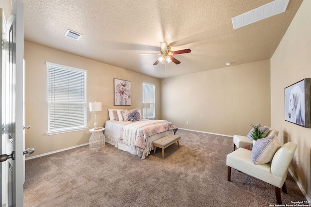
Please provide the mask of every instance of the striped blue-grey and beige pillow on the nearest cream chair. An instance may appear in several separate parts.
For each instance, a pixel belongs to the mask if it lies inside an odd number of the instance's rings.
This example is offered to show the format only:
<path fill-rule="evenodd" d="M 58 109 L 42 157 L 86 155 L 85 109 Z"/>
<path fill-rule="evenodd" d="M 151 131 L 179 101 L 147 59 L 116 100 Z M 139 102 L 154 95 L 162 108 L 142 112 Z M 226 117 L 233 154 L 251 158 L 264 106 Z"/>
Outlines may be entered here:
<path fill-rule="evenodd" d="M 255 164 L 265 164 L 273 159 L 276 151 L 281 147 L 276 135 L 271 135 L 256 141 L 252 148 L 251 158 Z"/>

